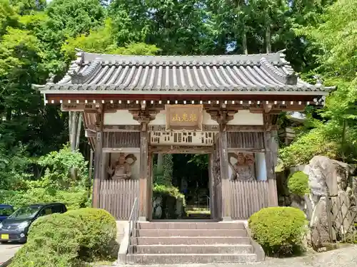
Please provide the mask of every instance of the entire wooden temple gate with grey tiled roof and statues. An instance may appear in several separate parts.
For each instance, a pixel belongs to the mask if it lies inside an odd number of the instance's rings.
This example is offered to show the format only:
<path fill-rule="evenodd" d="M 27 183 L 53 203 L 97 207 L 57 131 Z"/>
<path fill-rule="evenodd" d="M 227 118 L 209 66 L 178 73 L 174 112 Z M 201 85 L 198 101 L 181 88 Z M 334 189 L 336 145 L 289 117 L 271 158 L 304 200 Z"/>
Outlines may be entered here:
<path fill-rule="evenodd" d="M 78 53 L 45 103 L 84 113 L 94 149 L 93 206 L 151 220 L 155 153 L 209 155 L 211 219 L 277 206 L 274 168 L 282 111 L 323 105 L 331 88 L 299 79 L 281 53 L 120 56 Z"/>

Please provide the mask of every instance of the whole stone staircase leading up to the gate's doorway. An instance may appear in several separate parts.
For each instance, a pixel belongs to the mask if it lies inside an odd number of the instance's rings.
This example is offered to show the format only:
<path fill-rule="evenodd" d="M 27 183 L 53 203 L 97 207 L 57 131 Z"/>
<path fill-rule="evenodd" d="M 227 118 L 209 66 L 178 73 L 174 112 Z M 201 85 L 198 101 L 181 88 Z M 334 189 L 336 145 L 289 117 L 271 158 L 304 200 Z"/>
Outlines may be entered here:
<path fill-rule="evenodd" d="M 130 244 L 126 255 L 126 263 L 129 264 L 262 260 L 244 224 L 237 222 L 139 222 Z"/>

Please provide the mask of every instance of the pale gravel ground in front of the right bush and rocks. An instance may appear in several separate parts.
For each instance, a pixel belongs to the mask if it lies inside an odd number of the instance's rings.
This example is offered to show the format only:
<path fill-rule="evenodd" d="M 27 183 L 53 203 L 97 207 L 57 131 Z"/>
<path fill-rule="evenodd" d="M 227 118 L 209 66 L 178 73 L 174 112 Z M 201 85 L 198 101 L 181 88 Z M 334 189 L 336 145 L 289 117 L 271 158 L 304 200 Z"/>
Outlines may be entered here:
<path fill-rule="evenodd" d="M 131 267 L 141 267 L 130 265 Z M 266 258 L 261 263 L 237 264 L 189 264 L 189 265 L 155 265 L 150 267 L 356 267 L 357 246 L 345 246 L 333 251 L 311 253 L 293 258 Z M 101 266 L 106 267 L 106 266 Z M 108 266 L 109 267 L 109 266 Z"/>

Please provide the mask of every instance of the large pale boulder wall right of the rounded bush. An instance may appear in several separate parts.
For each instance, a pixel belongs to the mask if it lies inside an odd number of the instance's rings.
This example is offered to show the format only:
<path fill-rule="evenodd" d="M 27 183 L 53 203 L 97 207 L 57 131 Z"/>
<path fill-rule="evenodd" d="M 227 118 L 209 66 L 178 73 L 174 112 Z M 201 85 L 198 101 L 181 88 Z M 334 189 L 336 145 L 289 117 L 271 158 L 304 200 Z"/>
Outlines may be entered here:
<path fill-rule="evenodd" d="M 357 187 L 354 168 L 328 157 L 316 156 L 303 169 L 310 194 L 303 199 L 310 219 L 310 242 L 314 249 L 341 241 L 356 220 Z M 329 220 L 331 221 L 329 223 Z"/>

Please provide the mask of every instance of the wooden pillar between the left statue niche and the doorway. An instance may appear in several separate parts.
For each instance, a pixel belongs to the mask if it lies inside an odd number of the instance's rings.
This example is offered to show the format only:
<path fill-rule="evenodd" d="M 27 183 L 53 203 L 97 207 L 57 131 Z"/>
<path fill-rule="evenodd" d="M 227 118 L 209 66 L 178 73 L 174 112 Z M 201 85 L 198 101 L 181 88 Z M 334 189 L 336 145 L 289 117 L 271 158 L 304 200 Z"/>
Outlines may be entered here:
<path fill-rule="evenodd" d="M 139 221 L 146 221 L 149 218 L 149 132 L 147 131 L 148 120 L 139 120 L 141 123 L 140 132 L 140 181 L 139 181 Z"/>

